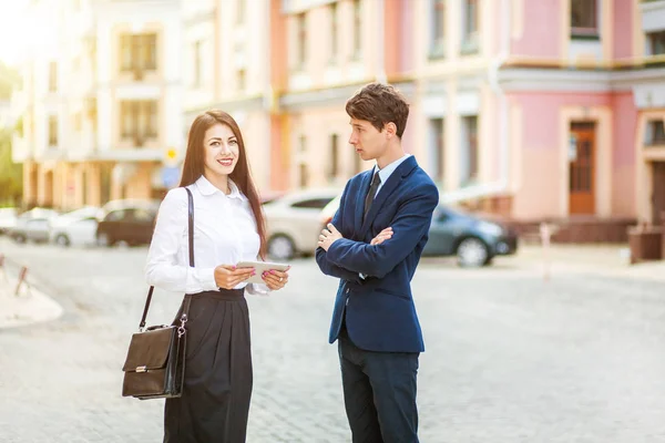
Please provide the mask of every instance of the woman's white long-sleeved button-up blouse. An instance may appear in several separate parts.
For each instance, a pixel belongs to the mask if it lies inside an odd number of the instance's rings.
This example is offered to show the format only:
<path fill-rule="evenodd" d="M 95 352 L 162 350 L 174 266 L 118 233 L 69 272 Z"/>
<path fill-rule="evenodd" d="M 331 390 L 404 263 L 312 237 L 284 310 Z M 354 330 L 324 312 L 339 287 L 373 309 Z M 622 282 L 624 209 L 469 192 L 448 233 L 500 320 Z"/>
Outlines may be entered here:
<path fill-rule="evenodd" d="M 256 261 L 260 240 L 249 200 L 231 179 L 225 195 L 204 176 L 187 186 L 194 197 L 194 268 L 190 267 L 187 192 L 171 189 L 157 214 L 145 279 L 167 291 L 196 293 L 217 290 L 215 268 Z M 249 293 L 267 293 L 266 285 L 242 282 Z"/>

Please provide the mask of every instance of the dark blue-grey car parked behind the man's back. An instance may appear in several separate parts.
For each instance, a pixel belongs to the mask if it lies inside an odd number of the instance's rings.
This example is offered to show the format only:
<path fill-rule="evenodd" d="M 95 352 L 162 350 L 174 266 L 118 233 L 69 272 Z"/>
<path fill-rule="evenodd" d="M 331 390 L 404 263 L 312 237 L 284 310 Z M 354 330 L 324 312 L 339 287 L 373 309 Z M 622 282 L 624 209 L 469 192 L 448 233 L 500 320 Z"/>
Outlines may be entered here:
<path fill-rule="evenodd" d="M 483 266 L 500 255 L 515 254 L 513 229 L 482 216 L 439 206 L 432 216 L 423 256 L 457 256 L 464 267 Z"/>

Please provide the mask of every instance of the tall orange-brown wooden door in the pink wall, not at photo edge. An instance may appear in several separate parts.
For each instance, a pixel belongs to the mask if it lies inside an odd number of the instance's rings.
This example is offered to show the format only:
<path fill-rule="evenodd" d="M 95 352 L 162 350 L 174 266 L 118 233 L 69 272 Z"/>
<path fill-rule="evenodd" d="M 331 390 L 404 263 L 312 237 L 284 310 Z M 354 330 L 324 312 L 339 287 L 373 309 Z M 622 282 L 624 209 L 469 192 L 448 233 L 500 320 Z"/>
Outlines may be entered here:
<path fill-rule="evenodd" d="M 595 214 L 595 124 L 571 124 L 569 213 Z"/>

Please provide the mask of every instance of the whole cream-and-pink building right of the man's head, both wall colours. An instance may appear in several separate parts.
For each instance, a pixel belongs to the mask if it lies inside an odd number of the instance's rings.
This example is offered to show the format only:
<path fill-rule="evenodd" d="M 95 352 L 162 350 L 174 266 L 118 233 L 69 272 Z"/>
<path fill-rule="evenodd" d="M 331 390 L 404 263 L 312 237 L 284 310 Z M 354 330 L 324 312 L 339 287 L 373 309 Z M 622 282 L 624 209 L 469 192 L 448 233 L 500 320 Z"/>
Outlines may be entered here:
<path fill-rule="evenodd" d="M 665 222 L 665 1 L 422 3 L 416 153 L 444 200 L 571 240 Z"/>

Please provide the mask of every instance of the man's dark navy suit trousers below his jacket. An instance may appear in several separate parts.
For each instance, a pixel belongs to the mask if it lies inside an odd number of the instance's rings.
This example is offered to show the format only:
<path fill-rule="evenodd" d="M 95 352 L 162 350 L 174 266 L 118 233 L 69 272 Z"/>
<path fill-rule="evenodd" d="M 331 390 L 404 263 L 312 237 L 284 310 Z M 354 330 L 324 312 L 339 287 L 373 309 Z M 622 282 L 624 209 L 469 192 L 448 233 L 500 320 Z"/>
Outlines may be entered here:
<path fill-rule="evenodd" d="M 344 327 L 338 350 L 352 442 L 417 443 L 419 352 L 365 351 L 352 343 Z"/>

